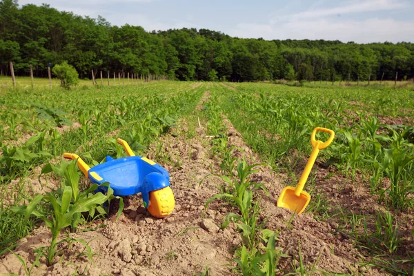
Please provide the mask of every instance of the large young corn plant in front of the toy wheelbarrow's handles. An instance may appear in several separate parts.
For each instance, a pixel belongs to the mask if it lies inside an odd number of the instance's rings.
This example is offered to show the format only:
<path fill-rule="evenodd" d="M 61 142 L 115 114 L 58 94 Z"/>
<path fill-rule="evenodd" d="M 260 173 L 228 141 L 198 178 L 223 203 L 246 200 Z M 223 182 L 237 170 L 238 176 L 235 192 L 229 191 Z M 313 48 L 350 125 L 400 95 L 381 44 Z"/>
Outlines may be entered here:
<path fill-rule="evenodd" d="M 56 193 L 37 195 L 27 206 L 15 206 L 11 208 L 14 213 L 24 215 L 25 219 L 28 219 L 31 215 L 38 217 L 49 228 L 52 233 L 52 240 L 50 246 L 46 248 L 48 266 L 53 264 L 55 256 L 59 254 L 57 246 L 62 242 L 70 242 L 72 240 L 63 239 L 59 241 L 58 238 L 61 231 L 68 226 L 72 230 L 75 230 L 82 213 L 89 213 L 92 217 L 95 215 L 95 210 L 99 213 L 105 213 L 102 205 L 115 198 L 113 190 L 108 184 L 103 184 L 108 187 L 108 193 L 106 195 L 103 195 L 103 193 L 94 193 L 99 187 L 97 184 L 93 184 L 90 188 L 80 191 L 79 172 L 76 168 L 75 161 L 70 161 L 67 166 L 63 165 L 61 168 L 56 168 L 56 170 L 60 170 L 60 173 L 64 170 L 63 173 L 66 179 Z M 49 169 L 47 168 L 45 171 L 47 170 Z M 52 215 L 48 216 L 47 211 L 39 210 L 37 208 L 39 204 L 50 206 Z M 123 201 L 120 199 L 118 216 L 121 214 L 123 207 Z M 79 240 L 78 242 L 85 244 L 83 240 Z"/>

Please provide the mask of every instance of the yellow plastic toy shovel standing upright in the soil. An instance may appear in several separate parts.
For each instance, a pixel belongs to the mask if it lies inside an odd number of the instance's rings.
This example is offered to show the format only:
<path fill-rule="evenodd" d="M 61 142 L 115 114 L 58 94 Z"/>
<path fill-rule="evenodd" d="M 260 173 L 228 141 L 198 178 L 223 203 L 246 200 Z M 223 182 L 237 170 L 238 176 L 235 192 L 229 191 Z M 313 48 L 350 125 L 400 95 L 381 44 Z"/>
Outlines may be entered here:
<path fill-rule="evenodd" d="M 329 133 L 330 136 L 326 142 L 316 140 L 316 132 L 318 131 Z M 305 170 L 302 172 L 302 176 L 299 179 L 299 183 L 297 184 L 296 188 L 288 186 L 282 190 L 279 199 L 277 199 L 277 207 L 288 208 L 297 213 L 297 215 L 300 215 L 305 210 L 306 206 L 308 206 L 309 201 L 311 200 L 311 195 L 303 190 L 306 180 L 311 173 L 319 150 L 323 150 L 324 148 L 328 147 L 332 143 L 333 138 L 335 138 L 335 132 L 333 132 L 333 130 L 329 130 L 327 128 L 315 128 L 313 130 L 311 135 L 311 144 L 313 150 L 311 157 L 309 157 L 308 163 L 306 163 Z"/>

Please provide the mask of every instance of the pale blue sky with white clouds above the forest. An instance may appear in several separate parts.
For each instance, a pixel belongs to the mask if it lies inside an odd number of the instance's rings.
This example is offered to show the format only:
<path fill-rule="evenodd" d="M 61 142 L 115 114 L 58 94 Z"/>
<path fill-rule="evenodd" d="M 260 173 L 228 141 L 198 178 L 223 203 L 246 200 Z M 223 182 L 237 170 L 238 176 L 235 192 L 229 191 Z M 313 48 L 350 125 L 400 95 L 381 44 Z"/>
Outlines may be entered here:
<path fill-rule="evenodd" d="M 207 28 L 233 37 L 414 42 L 413 0 L 19 0 L 146 30 Z"/>

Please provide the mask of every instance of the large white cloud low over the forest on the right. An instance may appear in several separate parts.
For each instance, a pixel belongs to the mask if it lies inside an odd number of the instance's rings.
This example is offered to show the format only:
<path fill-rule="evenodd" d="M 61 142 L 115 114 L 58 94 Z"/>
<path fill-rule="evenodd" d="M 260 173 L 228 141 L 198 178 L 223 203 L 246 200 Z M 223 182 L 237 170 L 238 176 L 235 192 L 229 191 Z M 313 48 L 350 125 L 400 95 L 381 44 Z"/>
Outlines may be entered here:
<path fill-rule="evenodd" d="M 324 0 L 317 2 L 317 5 Z M 337 14 L 357 14 L 380 10 L 404 10 L 400 0 L 349 0 L 333 8 L 306 10 L 273 17 L 268 23 L 239 23 L 229 34 L 264 39 L 326 39 L 357 43 L 413 41 L 414 19 L 341 19 Z"/>

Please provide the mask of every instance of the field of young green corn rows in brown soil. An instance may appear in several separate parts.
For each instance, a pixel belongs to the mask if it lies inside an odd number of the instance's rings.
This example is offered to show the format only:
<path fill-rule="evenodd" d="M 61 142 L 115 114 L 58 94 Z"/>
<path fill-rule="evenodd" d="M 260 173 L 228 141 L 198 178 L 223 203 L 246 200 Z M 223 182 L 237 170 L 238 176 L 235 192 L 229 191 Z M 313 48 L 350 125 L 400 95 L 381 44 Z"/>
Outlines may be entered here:
<path fill-rule="evenodd" d="M 414 275 L 410 83 L 37 81 L 0 90 L 0 274 Z M 295 215 L 276 202 L 317 126 L 336 137 Z M 99 194 L 63 152 L 96 166 L 126 156 L 118 137 L 168 170 L 170 216 L 110 190 L 86 208 Z"/>

